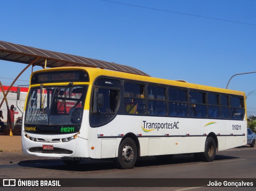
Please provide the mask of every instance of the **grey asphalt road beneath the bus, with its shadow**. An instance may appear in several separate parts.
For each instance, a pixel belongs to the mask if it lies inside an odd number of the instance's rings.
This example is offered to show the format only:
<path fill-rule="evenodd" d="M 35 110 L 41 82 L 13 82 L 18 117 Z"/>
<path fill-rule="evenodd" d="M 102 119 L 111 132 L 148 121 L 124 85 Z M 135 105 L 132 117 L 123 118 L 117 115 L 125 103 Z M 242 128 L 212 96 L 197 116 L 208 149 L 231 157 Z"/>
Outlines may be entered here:
<path fill-rule="evenodd" d="M 218 151 L 213 162 L 197 162 L 193 155 L 175 155 L 170 161 L 160 161 L 155 157 L 140 157 L 133 169 L 116 169 L 112 161 L 107 160 L 85 160 L 79 165 L 65 165 L 58 158 L 42 158 L 23 155 L 22 152 L 0 153 L 0 178 L 108 178 L 114 179 L 136 178 L 137 180 L 168 178 L 170 181 L 184 178 L 208 178 L 208 179 L 244 179 L 256 178 L 256 148 L 246 145 L 242 148 L 233 148 L 226 151 Z M 178 179 L 175 179 L 178 178 Z M 136 181 L 136 179 L 134 179 Z M 118 179 L 120 180 L 120 179 Z M 124 182 L 125 185 L 126 182 Z M 100 186 L 100 185 L 99 185 Z M 122 190 L 131 190 L 133 187 L 122 187 Z M 29 188 L 0 188 L 1 190 L 28 190 Z M 31 188 L 30 188 L 31 189 Z M 36 188 L 45 190 L 45 188 Z M 48 189 L 48 188 L 47 188 Z M 51 190 L 80 190 L 80 187 L 51 188 Z M 177 190 L 184 187 L 139 187 L 136 190 Z M 186 188 L 192 189 L 192 188 Z M 221 187 L 220 190 L 233 190 L 238 188 Z M 240 188 L 239 190 L 254 190 L 255 188 Z M 87 187 L 86 190 L 120 190 L 119 188 Z M 216 187 L 193 188 L 195 190 L 216 190 Z"/>

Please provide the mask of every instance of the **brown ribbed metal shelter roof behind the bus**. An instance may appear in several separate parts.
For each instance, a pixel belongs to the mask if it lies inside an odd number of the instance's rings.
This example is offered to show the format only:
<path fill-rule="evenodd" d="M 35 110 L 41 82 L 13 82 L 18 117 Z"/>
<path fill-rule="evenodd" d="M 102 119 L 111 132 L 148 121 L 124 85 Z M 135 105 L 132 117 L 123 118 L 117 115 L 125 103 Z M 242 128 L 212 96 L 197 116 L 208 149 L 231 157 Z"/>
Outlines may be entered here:
<path fill-rule="evenodd" d="M 38 60 L 36 60 L 38 59 Z M 136 68 L 124 66 L 113 62 L 105 62 L 92 58 L 85 58 L 82 56 L 75 56 L 71 54 L 64 54 L 40 48 L 33 48 L 10 42 L 0 41 L 0 60 L 7 60 L 11 62 L 19 62 L 24 64 L 33 63 L 33 66 L 44 67 L 45 60 L 47 59 L 48 68 L 65 67 L 65 66 L 87 66 L 93 68 L 104 68 L 109 70 L 116 70 L 120 72 L 127 72 L 131 74 L 138 74 L 149 76 Z"/>

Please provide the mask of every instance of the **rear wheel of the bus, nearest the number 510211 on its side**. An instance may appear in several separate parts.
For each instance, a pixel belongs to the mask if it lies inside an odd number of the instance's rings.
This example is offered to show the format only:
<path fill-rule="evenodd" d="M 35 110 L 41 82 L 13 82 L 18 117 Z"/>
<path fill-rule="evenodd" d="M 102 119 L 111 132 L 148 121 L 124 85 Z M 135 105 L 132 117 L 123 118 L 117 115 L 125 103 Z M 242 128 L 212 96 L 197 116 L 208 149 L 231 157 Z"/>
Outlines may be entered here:
<path fill-rule="evenodd" d="M 214 138 L 208 137 L 205 141 L 204 152 L 202 152 L 202 159 L 205 162 L 212 162 L 216 155 L 216 143 Z"/>

